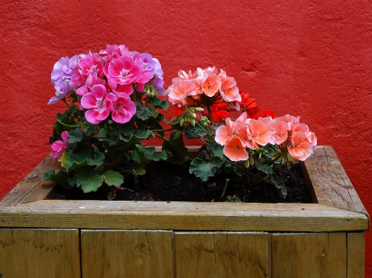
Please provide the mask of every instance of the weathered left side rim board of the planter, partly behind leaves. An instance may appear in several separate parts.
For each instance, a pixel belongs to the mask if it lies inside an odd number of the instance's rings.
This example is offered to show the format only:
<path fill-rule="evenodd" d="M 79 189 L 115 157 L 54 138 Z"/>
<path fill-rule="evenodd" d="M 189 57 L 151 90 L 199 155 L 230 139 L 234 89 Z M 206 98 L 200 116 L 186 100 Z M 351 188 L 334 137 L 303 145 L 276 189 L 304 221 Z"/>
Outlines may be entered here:
<path fill-rule="evenodd" d="M 40 177 L 43 171 L 50 168 L 56 170 L 61 169 L 61 165 L 57 159 L 48 155 L 34 170 L 21 180 L 13 190 L 1 199 L 0 208 L 45 199 L 45 197 L 50 194 L 55 183 L 50 180 L 42 181 Z"/>

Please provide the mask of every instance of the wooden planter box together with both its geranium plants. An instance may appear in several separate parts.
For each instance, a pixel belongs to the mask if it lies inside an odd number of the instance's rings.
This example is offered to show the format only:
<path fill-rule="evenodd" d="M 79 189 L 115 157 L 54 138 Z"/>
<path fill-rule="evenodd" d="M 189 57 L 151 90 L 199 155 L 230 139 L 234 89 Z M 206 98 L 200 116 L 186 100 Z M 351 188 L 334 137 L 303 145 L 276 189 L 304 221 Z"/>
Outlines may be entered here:
<path fill-rule="evenodd" d="M 297 118 L 274 118 L 267 111 L 258 115 L 254 100 L 237 94 L 232 79 L 228 85 L 221 82 L 213 96 L 189 95 L 193 78 L 184 75 L 168 91 L 171 100 L 179 98 L 174 102 L 180 114 L 172 123 L 178 131 L 165 139 L 163 116 L 156 111 L 168 104 L 156 97 L 162 91 L 156 86 L 162 85 L 161 74 L 154 70 L 151 78 L 146 73 L 145 79 L 142 74 L 135 79 L 131 70 L 146 69 L 147 62 L 123 46 L 108 46 L 97 55 L 101 58 L 88 54 L 56 65 L 54 73 L 61 78 L 52 79 L 60 91 L 51 102 L 62 100 L 68 110 L 54 124 L 55 158 L 46 157 L 0 201 L 0 277 L 363 277 L 369 215 L 332 148 L 313 150 L 315 137 Z M 98 73 L 100 59 L 103 75 Z M 117 83 L 128 76 L 133 77 L 128 84 Z M 210 79 L 213 87 L 218 80 Z M 226 95 L 234 98 L 224 100 Z M 287 138 L 272 144 L 276 125 Z M 145 162 L 169 158 L 168 151 L 156 153 L 140 144 L 154 132 L 165 139 L 163 148 L 182 157 L 181 128 L 186 138 L 204 142 L 190 163 L 204 179 L 222 170 L 246 176 L 254 167 L 267 179 L 279 164 L 292 160 L 290 155 L 303 160 L 314 152 L 302 162 L 313 203 L 51 199 L 54 181 L 67 180 L 86 192 L 114 187 L 126 174 L 143 173 Z M 255 128 L 263 132 L 253 136 Z M 261 138 L 267 133 L 269 139 Z M 55 173 L 61 164 L 65 170 Z M 91 183 L 84 183 L 84 176 Z"/>

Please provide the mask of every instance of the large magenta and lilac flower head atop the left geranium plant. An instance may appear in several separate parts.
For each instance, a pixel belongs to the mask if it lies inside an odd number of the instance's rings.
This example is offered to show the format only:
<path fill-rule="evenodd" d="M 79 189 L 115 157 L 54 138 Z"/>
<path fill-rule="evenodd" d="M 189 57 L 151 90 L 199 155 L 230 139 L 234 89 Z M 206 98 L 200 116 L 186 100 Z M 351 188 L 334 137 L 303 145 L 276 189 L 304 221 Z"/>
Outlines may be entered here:
<path fill-rule="evenodd" d="M 159 61 L 147 53 L 129 52 L 125 45 L 107 45 L 99 53 L 61 58 L 51 77 L 58 86 L 49 104 L 75 91 L 81 96 L 81 108 L 87 109 L 85 118 L 94 124 L 110 114 L 117 123 L 131 120 L 136 111 L 130 98 L 133 88 L 142 93 L 145 85 L 151 85 L 164 93 Z"/>

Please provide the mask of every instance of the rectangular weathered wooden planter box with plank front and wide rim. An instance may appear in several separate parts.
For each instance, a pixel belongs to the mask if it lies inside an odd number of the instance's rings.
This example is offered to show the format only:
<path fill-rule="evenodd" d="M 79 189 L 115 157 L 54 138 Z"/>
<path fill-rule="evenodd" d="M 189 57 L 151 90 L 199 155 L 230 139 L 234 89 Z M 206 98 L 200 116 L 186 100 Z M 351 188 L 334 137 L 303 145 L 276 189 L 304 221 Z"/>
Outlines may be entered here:
<path fill-rule="evenodd" d="M 57 201 L 45 158 L 0 203 L 0 277 L 364 277 L 369 215 L 334 150 L 313 203 Z"/>

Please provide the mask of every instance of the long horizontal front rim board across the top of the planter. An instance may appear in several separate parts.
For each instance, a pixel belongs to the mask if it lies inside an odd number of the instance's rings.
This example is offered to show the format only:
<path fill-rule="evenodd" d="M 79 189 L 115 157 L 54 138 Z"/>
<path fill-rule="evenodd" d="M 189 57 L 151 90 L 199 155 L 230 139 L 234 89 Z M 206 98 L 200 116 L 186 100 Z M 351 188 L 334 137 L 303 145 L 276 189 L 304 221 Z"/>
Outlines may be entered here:
<path fill-rule="evenodd" d="M 37 201 L 0 209 L 0 226 L 198 231 L 362 231 L 361 213 L 320 204 Z"/>

